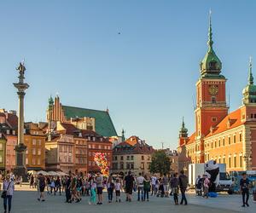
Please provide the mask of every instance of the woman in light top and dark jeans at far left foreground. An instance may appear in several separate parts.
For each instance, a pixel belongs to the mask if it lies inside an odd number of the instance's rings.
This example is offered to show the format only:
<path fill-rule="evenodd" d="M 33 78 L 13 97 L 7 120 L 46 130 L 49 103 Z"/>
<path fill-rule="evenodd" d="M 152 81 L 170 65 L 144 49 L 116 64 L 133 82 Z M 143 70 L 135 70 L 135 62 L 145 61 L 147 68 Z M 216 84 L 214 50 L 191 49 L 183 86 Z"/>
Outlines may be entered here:
<path fill-rule="evenodd" d="M 12 198 L 15 191 L 15 183 L 10 179 L 9 174 L 6 176 L 6 179 L 3 181 L 3 208 L 4 213 L 7 211 L 7 204 L 8 204 L 8 212 L 10 213 L 12 207 Z"/>

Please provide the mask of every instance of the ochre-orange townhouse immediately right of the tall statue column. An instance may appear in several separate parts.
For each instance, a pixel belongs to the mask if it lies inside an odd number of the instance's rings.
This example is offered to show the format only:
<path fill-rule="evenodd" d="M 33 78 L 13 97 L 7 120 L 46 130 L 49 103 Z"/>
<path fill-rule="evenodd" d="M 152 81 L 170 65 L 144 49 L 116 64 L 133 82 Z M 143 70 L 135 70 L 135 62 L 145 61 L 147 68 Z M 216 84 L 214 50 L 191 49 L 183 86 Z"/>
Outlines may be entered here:
<path fill-rule="evenodd" d="M 45 169 L 45 135 L 38 125 L 32 122 L 25 124 L 24 143 L 26 145 L 27 170 Z"/>

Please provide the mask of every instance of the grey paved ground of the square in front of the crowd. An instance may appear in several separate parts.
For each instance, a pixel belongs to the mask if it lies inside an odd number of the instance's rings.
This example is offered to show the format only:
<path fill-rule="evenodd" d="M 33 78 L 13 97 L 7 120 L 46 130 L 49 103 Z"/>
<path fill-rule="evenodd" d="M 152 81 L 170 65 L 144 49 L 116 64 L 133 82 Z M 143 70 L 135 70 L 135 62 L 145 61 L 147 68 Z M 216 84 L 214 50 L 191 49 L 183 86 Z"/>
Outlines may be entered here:
<path fill-rule="evenodd" d="M 18 188 L 18 187 L 17 187 Z M 165 212 L 182 212 L 182 213 L 231 213 L 231 212 L 255 212 L 256 204 L 251 202 L 251 207 L 242 209 L 241 198 L 239 195 L 220 195 L 217 199 L 202 199 L 194 194 L 189 194 L 189 205 L 174 205 L 172 198 L 150 197 L 149 202 L 138 202 L 137 194 L 134 194 L 131 203 L 125 202 L 125 194 L 122 193 L 121 203 L 107 202 L 107 193 L 103 193 L 104 202 L 102 205 L 89 205 L 88 197 L 84 197 L 79 204 L 65 204 L 64 193 L 60 195 L 48 195 L 45 202 L 38 202 L 37 192 L 34 190 L 24 191 L 23 189 L 15 192 L 13 198 L 12 213 L 84 213 L 84 212 L 102 212 L 102 213 L 165 213 Z M 113 196 L 114 197 L 114 196 Z M 3 204 L 0 212 L 3 212 Z"/>

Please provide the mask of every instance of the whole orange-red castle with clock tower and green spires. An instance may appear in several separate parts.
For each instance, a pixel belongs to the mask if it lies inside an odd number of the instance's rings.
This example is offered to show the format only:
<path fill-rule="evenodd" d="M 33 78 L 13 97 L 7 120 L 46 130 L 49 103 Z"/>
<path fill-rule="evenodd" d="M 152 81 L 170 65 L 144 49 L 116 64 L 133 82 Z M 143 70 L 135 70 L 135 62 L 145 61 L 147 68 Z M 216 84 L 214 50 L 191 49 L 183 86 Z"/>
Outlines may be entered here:
<path fill-rule="evenodd" d="M 184 122 L 179 132 L 178 167 L 210 159 L 226 164 L 227 170 L 256 170 L 256 85 L 250 61 L 248 83 L 243 89 L 242 106 L 228 112 L 222 63 L 212 49 L 212 24 L 208 50 L 201 60 L 196 83 L 195 132 L 188 136 Z"/>

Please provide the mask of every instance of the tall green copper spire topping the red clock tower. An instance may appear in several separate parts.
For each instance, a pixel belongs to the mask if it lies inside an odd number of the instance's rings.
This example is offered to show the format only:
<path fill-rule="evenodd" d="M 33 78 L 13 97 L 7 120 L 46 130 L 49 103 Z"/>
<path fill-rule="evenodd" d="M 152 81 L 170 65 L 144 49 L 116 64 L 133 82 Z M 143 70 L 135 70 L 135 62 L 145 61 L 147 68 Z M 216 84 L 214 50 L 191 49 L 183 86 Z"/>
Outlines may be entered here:
<path fill-rule="evenodd" d="M 215 54 L 212 45 L 212 11 L 209 12 L 209 28 L 208 28 L 208 41 L 207 41 L 208 49 L 207 54 L 204 59 L 201 60 L 200 70 L 201 77 L 211 78 L 218 76 L 218 78 L 224 78 L 224 76 L 219 75 L 222 63 L 218 59 L 218 56 Z"/>

